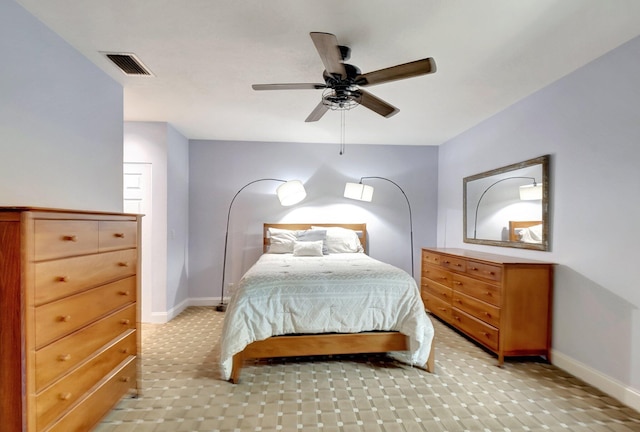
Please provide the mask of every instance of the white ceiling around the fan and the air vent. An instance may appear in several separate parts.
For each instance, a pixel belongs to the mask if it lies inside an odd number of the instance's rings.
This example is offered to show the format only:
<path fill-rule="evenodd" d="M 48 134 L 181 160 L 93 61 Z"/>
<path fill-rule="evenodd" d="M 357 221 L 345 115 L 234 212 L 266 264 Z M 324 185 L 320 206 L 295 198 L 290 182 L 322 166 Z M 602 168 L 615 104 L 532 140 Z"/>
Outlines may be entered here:
<path fill-rule="evenodd" d="M 190 139 L 340 142 L 339 112 L 304 122 L 321 90 L 251 89 L 322 83 L 311 31 L 334 33 L 363 73 L 435 59 L 435 74 L 367 87 L 397 115 L 345 115 L 347 143 L 407 145 L 441 144 L 640 34 L 638 0 L 17 1 L 123 85 L 125 120 Z"/>

